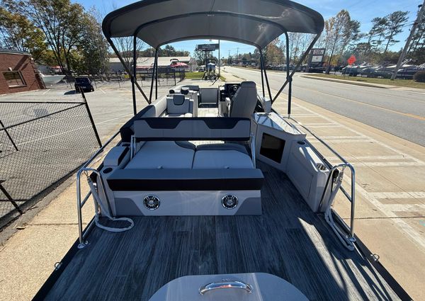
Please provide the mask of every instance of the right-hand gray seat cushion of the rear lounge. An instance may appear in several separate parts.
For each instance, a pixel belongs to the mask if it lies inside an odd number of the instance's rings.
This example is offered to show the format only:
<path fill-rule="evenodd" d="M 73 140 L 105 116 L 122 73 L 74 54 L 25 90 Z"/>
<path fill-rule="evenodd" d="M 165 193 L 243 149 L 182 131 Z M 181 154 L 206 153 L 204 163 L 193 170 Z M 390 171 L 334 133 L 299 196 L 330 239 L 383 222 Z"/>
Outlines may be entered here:
<path fill-rule="evenodd" d="M 193 158 L 192 168 L 254 169 L 254 164 L 247 154 L 237 150 L 197 150 Z"/>

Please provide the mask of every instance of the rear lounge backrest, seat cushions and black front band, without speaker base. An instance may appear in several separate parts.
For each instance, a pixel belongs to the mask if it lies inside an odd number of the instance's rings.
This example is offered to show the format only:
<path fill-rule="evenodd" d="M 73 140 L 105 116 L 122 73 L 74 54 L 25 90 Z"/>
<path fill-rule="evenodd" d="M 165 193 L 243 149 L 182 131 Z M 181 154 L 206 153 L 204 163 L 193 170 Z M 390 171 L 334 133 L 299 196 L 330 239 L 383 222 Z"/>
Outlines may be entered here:
<path fill-rule="evenodd" d="M 187 142 L 247 141 L 250 138 L 250 126 L 249 118 L 135 120 L 135 140 L 142 146 L 124 169 L 117 169 L 108 177 L 108 184 L 113 191 L 137 191 L 148 189 L 152 184 L 151 180 L 155 179 L 164 180 L 158 183 L 162 186 L 158 187 L 160 190 L 184 190 L 183 187 L 186 186 L 190 190 L 258 190 L 261 188 L 263 174 L 261 170 L 254 168 L 244 146 L 225 143 L 195 147 Z M 198 184 L 202 182 L 203 185 L 196 187 L 193 183 L 186 183 L 187 180 Z"/>

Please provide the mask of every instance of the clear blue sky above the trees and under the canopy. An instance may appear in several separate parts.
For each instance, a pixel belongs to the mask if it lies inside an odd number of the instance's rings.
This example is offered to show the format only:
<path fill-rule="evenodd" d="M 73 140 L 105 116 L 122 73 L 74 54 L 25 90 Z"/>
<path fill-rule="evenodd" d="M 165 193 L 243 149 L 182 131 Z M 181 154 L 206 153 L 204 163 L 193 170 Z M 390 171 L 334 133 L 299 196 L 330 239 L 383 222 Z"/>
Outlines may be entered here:
<path fill-rule="evenodd" d="M 196 0 L 193 0 L 196 1 Z M 361 22 L 361 30 L 367 32 L 370 29 L 370 20 L 376 16 L 385 16 L 393 11 L 409 11 L 409 24 L 413 23 L 416 18 L 416 11 L 422 0 L 295 0 L 296 2 L 313 8 L 319 13 L 322 13 L 325 19 L 335 16 L 341 9 L 347 9 L 351 18 Z M 113 11 L 114 7 L 120 8 L 122 6 L 131 4 L 135 1 L 132 0 L 77 0 L 81 5 L 86 8 L 96 6 L 98 11 L 106 16 L 107 13 Z M 404 42 L 409 35 L 409 26 L 404 27 L 403 33 L 397 35 L 399 43 L 391 47 L 392 50 L 399 50 L 404 46 Z M 177 50 L 188 50 L 191 53 L 196 47 L 196 44 L 208 43 L 208 40 L 185 41 L 176 42 L 172 45 Z M 212 41 L 216 42 L 216 41 Z M 237 42 L 220 42 L 220 56 L 227 57 L 227 55 L 235 55 L 238 51 L 253 52 L 254 47 L 240 44 Z M 215 54 L 217 55 L 217 54 Z"/>

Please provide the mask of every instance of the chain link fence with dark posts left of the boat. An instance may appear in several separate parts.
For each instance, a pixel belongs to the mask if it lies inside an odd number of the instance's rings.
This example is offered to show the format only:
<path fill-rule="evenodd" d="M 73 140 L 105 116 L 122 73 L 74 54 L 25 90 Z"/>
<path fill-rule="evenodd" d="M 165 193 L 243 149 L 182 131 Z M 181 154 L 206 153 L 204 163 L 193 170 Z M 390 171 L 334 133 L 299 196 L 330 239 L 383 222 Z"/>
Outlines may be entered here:
<path fill-rule="evenodd" d="M 101 142 L 81 98 L 0 101 L 0 229 L 91 157 Z"/>

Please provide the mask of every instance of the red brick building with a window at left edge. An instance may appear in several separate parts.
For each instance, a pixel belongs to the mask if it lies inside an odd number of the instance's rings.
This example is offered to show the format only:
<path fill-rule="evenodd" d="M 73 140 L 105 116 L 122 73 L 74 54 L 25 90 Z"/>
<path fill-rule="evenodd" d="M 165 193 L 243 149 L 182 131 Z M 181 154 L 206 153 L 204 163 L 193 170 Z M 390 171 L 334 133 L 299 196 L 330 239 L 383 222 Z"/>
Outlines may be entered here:
<path fill-rule="evenodd" d="M 0 94 L 44 89 L 28 52 L 0 48 Z"/>

